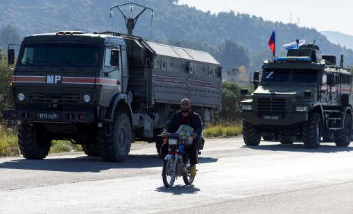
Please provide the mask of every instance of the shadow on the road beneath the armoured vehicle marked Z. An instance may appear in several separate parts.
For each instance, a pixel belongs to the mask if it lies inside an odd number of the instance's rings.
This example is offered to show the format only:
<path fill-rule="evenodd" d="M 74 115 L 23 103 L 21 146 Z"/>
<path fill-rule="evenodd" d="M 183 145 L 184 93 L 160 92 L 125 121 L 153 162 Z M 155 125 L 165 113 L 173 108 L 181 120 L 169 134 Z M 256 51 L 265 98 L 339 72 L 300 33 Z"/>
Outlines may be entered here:
<path fill-rule="evenodd" d="M 262 144 L 261 143 L 266 143 Z M 321 143 L 317 149 L 304 148 L 302 143 L 293 143 L 291 145 L 280 144 L 279 142 L 261 141 L 260 145 L 243 145 L 242 148 L 251 148 L 253 150 L 268 150 L 268 151 L 286 151 L 286 152 L 310 152 L 310 153 L 337 153 L 337 152 L 352 152 L 353 147 L 341 147 L 332 143 Z M 268 144 L 273 143 L 273 144 Z M 279 143 L 279 144 L 275 144 Z"/>

